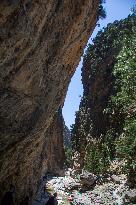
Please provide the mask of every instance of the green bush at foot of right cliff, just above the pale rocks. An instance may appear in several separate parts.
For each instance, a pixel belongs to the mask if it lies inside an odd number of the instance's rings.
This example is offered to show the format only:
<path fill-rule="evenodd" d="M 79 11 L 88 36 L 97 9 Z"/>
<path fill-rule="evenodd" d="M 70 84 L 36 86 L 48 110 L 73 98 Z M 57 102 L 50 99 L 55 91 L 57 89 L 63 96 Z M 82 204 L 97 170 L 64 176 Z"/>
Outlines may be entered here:
<path fill-rule="evenodd" d="M 107 171 L 111 161 L 114 159 L 115 150 L 114 130 L 108 130 L 106 135 L 101 135 L 99 139 L 92 139 L 87 146 L 85 168 L 89 172 L 102 174 Z"/>

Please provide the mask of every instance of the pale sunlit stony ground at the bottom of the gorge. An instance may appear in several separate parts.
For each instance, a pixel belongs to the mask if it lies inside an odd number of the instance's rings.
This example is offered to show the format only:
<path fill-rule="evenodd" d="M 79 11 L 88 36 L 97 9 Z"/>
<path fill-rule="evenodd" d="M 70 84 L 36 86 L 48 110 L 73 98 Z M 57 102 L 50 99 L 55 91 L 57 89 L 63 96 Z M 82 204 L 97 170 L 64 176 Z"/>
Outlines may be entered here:
<path fill-rule="evenodd" d="M 70 171 L 67 171 L 64 177 L 48 175 L 46 179 L 41 180 L 33 205 L 45 205 L 49 195 L 54 192 L 58 193 L 60 205 L 136 204 L 136 189 L 129 189 L 125 175 L 107 175 L 96 178 L 92 174 L 88 175 L 87 172 L 71 176 Z"/>

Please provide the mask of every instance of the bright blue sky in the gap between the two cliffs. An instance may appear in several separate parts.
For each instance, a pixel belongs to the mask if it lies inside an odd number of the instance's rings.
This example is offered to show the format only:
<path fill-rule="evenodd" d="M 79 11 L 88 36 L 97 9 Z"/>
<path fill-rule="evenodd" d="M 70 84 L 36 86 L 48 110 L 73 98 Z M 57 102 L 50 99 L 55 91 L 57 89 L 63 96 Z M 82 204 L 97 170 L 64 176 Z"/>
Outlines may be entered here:
<path fill-rule="evenodd" d="M 107 0 L 103 5 L 106 9 L 107 17 L 100 21 L 100 27 L 96 27 L 91 35 L 88 43 L 91 43 L 91 38 L 94 38 L 97 32 L 106 27 L 108 23 L 112 23 L 115 20 L 126 18 L 130 14 L 130 8 L 136 4 L 136 0 Z M 81 83 L 81 67 L 82 58 L 76 69 L 74 76 L 71 79 L 69 89 L 67 92 L 65 104 L 63 107 L 63 116 L 66 125 L 70 128 L 70 125 L 75 121 L 75 112 L 79 109 L 79 103 L 83 94 L 83 87 Z"/>

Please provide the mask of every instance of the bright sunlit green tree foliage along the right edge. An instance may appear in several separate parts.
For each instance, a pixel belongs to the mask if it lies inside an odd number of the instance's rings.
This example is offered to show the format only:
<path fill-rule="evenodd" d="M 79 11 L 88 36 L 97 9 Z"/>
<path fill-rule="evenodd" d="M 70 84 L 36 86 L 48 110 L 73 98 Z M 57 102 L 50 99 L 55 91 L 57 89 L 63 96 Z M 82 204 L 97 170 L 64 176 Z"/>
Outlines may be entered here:
<path fill-rule="evenodd" d="M 116 86 L 119 92 L 112 98 L 125 114 L 123 131 L 116 141 L 117 155 L 125 159 L 124 172 L 136 176 L 136 33 L 124 39 L 124 47 L 115 66 Z"/>

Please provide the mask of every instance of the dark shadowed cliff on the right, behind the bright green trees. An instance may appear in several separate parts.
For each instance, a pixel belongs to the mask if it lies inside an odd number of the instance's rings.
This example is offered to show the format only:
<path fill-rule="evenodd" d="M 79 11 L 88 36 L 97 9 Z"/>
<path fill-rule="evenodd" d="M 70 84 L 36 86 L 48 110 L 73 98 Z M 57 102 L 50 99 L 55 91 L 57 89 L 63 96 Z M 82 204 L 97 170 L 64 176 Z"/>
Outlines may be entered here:
<path fill-rule="evenodd" d="M 85 166 L 88 158 L 90 171 L 99 172 L 101 161 L 106 158 L 103 156 L 102 146 L 109 140 L 109 136 L 111 142 L 106 146 L 109 146 L 111 157 L 114 158 L 114 140 L 123 132 L 124 121 L 127 118 L 126 113 L 122 111 L 122 105 L 110 104 L 111 98 L 117 96 L 121 90 L 120 85 L 116 83 L 120 75 L 115 76 L 114 70 L 118 56 L 125 45 L 123 39 L 131 39 L 135 28 L 134 16 L 109 24 L 104 31 L 98 33 L 93 40 L 94 44 L 89 46 L 84 57 L 82 67 L 84 93 L 72 130 L 75 168 L 79 171 Z M 131 57 L 128 56 L 128 59 Z M 93 159 L 94 153 L 96 156 Z M 99 153 L 101 156 L 98 156 Z M 96 169 L 97 157 L 100 159 L 98 169 Z"/>

